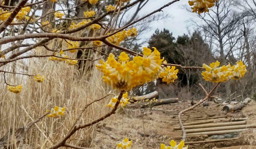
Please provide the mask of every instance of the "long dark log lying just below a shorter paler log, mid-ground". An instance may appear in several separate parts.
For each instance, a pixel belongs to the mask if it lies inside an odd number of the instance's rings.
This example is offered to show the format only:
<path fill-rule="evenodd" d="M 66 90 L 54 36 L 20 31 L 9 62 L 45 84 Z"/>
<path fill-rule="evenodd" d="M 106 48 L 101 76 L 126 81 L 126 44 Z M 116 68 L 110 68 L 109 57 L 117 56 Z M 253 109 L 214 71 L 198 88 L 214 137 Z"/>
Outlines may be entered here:
<path fill-rule="evenodd" d="M 162 100 L 162 102 L 161 102 Z M 149 102 L 141 102 L 137 104 L 128 104 L 127 107 L 129 108 L 146 108 L 146 107 L 154 107 L 154 106 L 159 106 L 162 104 L 170 104 L 170 103 L 175 103 L 178 102 L 178 98 L 169 98 L 169 99 L 158 99 L 157 102 L 153 102 L 151 104 L 147 104 Z"/>

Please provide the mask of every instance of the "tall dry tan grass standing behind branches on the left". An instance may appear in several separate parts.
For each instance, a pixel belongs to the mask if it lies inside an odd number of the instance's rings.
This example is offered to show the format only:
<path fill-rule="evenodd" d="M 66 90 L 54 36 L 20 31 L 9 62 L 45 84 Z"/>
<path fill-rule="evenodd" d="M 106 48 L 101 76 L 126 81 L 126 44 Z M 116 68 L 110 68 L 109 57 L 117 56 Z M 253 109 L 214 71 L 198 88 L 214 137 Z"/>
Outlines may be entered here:
<path fill-rule="evenodd" d="M 55 39 L 49 47 L 57 48 L 55 47 L 57 42 L 60 42 L 60 39 Z M 63 45 L 66 45 L 66 43 Z M 42 47 L 37 48 L 34 52 L 38 55 L 49 54 Z M 70 53 L 69 56 L 75 57 L 73 53 Z M 24 63 L 27 64 L 25 68 Z M 84 65 L 93 64 L 87 62 Z M 25 144 L 29 144 L 30 148 L 49 148 L 58 142 L 67 133 L 85 104 L 101 98 L 110 91 L 110 88 L 101 81 L 101 75 L 98 71 L 87 69 L 85 73 L 80 74 L 76 66 L 69 66 L 64 62 L 49 61 L 48 58 L 20 60 L 17 63 L 7 64 L 2 69 L 33 75 L 41 74 L 45 76 L 45 81 L 36 83 L 33 77 L 7 74 L 8 83 L 13 85 L 22 84 L 23 86 L 20 94 L 14 94 L 7 90 L 3 74 L 1 74 L 0 137 L 4 136 L 10 129 L 17 130 L 20 127 L 27 126 L 28 123 L 37 119 L 55 105 L 66 107 L 66 114 L 62 118 L 43 118 L 42 121 L 32 127 L 27 133 L 27 139 L 25 139 Z M 110 109 L 104 106 L 109 98 L 89 106 L 78 123 L 89 122 L 109 111 Z M 70 143 L 79 145 L 87 140 L 86 146 L 89 147 L 91 142 L 88 142 L 90 140 L 88 138 L 93 138 L 95 132 L 95 126 L 80 130 L 72 136 Z M 11 136 L 11 134 L 8 134 L 8 136 Z M 15 142 L 16 140 L 15 138 L 9 138 L 9 141 Z"/>

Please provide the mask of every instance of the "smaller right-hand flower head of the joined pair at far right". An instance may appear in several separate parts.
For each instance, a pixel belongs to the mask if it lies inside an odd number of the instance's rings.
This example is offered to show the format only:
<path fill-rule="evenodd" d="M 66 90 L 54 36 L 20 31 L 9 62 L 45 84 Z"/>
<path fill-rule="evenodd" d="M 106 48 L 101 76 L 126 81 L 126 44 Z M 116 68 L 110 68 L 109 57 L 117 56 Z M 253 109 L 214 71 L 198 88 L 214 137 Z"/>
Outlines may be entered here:
<path fill-rule="evenodd" d="M 236 62 L 236 65 L 232 66 L 232 79 L 233 80 L 239 80 L 241 77 L 244 76 L 244 74 L 247 72 L 246 66 L 243 64 L 243 62 L 240 60 L 239 62 Z"/>

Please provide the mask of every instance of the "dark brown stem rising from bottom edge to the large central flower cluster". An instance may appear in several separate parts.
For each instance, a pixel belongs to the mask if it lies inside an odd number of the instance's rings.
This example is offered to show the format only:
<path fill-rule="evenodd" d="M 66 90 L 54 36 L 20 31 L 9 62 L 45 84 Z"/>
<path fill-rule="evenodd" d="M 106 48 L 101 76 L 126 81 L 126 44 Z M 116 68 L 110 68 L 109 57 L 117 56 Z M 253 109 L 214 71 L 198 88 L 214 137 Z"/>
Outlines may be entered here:
<path fill-rule="evenodd" d="M 75 126 L 67 135 L 65 135 L 65 137 L 60 141 L 58 142 L 57 144 L 53 145 L 52 147 L 50 147 L 50 149 L 56 149 L 56 148 L 59 148 L 61 146 L 65 146 L 66 144 L 66 141 L 79 129 L 83 129 L 85 127 L 88 127 L 88 126 L 91 126 L 95 123 L 98 123 L 102 120 L 104 120 L 105 118 L 109 117 L 110 115 L 114 114 L 115 111 L 117 110 L 117 107 L 120 103 L 120 100 L 122 98 L 124 94 L 124 91 L 121 91 L 119 96 L 118 96 L 118 99 L 117 99 L 117 102 L 115 103 L 115 107 L 108 113 L 106 113 L 104 116 L 100 117 L 100 118 L 97 118 L 96 120 L 92 121 L 92 122 L 89 122 L 89 123 L 85 123 L 85 124 L 82 124 L 82 125 L 78 125 L 78 126 Z"/>

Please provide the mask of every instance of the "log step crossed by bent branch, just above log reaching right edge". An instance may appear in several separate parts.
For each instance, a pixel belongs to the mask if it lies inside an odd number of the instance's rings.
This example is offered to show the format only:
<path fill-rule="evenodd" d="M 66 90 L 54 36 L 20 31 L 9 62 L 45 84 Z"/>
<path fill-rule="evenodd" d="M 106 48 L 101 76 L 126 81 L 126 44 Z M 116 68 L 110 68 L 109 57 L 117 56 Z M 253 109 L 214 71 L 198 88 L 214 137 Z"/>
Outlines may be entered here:
<path fill-rule="evenodd" d="M 244 125 L 246 121 L 237 121 L 237 122 L 227 122 L 227 123 L 211 123 L 211 124 L 201 124 L 201 125 L 191 125 L 184 126 L 185 129 L 197 129 L 197 128 L 209 128 L 209 127 L 221 127 L 221 126 L 235 126 L 235 125 Z M 176 126 L 173 130 L 181 130 L 180 126 Z"/>

